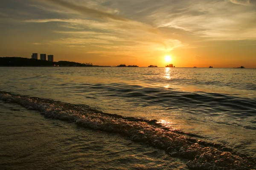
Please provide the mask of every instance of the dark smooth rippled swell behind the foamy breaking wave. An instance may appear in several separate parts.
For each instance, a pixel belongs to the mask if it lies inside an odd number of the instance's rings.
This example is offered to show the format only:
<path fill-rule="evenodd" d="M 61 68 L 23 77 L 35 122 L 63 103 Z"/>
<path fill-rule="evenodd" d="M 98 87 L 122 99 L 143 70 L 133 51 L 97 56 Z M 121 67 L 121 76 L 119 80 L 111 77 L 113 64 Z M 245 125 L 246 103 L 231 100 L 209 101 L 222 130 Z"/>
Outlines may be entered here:
<path fill-rule="evenodd" d="M 138 103 L 143 106 L 160 106 L 163 110 L 185 110 L 191 114 L 219 117 L 215 122 L 232 121 L 233 125 L 256 130 L 253 116 L 256 116 L 256 98 L 245 98 L 237 95 L 186 92 L 174 88 L 143 87 L 123 83 L 93 84 L 75 86 L 79 92 L 97 90 L 105 98 L 122 98 L 127 103 Z M 173 107 L 175 106 L 175 108 Z M 194 112 L 193 112 L 194 111 Z M 216 114 L 217 113 L 217 114 Z M 221 116 L 218 113 L 224 113 Z M 224 118 L 224 119 L 223 119 Z M 239 121 L 243 119 L 243 122 Z"/>

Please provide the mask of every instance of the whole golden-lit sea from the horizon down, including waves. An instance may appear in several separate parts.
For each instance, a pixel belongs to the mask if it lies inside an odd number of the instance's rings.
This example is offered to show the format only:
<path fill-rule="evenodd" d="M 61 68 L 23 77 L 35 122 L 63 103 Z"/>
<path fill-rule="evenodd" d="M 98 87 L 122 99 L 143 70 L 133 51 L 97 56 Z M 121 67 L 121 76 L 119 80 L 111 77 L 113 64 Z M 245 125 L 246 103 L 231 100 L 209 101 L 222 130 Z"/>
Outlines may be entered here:
<path fill-rule="evenodd" d="M 256 169 L 256 69 L 0 67 L 0 169 Z"/>

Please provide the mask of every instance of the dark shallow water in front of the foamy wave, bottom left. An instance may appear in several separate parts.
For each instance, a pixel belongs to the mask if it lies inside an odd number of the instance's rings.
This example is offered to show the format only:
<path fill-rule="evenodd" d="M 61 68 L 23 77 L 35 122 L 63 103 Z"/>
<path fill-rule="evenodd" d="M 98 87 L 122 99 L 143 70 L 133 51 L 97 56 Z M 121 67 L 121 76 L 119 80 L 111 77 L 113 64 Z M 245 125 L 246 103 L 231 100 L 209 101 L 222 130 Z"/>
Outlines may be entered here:
<path fill-rule="evenodd" d="M 115 133 L 45 119 L 0 101 L 0 169 L 184 169 L 186 161 Z"/>

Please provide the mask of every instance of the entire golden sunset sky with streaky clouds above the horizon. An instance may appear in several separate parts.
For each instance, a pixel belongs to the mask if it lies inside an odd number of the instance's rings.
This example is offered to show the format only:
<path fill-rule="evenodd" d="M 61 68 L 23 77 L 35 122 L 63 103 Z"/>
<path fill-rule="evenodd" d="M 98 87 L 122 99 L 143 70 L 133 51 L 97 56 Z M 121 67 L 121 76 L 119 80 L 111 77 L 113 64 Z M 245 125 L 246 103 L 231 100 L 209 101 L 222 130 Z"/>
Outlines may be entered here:
<path fill-rule="evenodd" d="M 0 57 L 32 53 L 93 65 L 256 68 L 256 0 L 1 0 Z"/>

